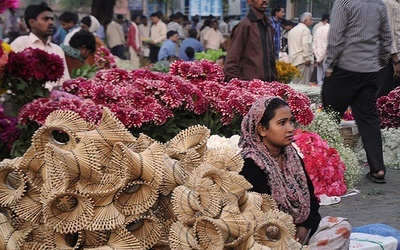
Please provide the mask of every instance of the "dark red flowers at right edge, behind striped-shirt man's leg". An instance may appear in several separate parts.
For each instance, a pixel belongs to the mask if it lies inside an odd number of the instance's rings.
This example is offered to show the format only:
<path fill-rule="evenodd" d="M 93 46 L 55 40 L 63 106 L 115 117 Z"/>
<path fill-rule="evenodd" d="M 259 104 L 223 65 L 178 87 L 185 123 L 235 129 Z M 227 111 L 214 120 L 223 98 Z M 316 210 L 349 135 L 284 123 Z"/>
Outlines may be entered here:
<path fill-rule="evenodd" d="M 400 87 L 380 97 L 376 106 L 381 116 L 381 128 L 400 127 Z"/>

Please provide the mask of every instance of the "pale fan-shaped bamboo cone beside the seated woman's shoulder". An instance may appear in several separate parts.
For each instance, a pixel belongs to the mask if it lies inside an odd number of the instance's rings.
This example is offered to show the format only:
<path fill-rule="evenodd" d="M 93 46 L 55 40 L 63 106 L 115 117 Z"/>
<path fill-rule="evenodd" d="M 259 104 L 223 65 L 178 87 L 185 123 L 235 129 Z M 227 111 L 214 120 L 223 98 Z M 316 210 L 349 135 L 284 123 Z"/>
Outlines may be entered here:
<path fill-rule="evenodd" d="M 215 168 L 237 173 L 242 170 L 244 164 L 243 158 L 236 150 L 228 147 L 208 149 L 205 162 Z"/>

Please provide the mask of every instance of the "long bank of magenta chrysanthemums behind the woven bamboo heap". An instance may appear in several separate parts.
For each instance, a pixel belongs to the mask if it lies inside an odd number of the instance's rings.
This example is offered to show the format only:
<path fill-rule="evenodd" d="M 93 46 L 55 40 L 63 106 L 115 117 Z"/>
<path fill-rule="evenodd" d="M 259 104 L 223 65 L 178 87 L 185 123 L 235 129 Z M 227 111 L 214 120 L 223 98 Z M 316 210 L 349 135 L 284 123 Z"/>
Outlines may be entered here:
<path fill-rule="evenodd" d="M 176 61 L 169 74 L 146 69 L 101 70 L 92 79 L 77 78 L 64 83 L 63 90 L 78 98 L 37 99 L 21 109 L 19 118 L 21 123 L 43 124 L 54 110 L 72 110 L 85 120 L 97 123 L 104 106 L 126 127 L 139 129 L 139 132 L 155 125 L 145 131 L 154 133 L 156 127 L 165 125 L 164 133 L 172 130 L 174 135 L 188 125 L 200 123 L 212 133 L 230 125 L 234 129 L 229 131 L 235 134 L 240 132 L 241 117 L 254 100 L 274 95 L 289 103 L 300 124 L 307 125 L 313 119 L 307 96 L 287 85 L 260 80 L 224 82 L 223 79 L 221 67 L 207 60 Z M 182 127 L 172 129 L 180 124 Z"/>

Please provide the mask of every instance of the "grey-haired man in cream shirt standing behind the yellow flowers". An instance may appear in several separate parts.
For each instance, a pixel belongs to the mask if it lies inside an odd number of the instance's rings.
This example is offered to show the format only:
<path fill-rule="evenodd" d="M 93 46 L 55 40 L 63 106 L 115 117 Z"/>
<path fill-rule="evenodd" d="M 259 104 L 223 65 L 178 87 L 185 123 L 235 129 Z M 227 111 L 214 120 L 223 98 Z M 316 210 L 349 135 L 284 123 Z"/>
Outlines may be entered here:
<path fill-rule="evenodd" d="M 288 48 L 289 62 L 297 67 L 300 77 L 293 79 L 293 83 L 309 84 L 313 72 L 314 60 L 311 43 L 312 36 L 309 27 L 312 25 L 312 15 L 304 12 L 300 16 L 300 23 L 289 31 Z"/>

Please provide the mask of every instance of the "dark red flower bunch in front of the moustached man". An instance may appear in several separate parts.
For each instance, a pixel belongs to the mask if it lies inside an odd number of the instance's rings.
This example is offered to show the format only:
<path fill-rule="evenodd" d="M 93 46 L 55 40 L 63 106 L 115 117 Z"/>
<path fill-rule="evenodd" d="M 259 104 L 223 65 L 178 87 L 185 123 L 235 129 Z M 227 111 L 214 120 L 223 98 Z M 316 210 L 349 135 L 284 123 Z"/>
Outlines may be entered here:
<path fill-rule="evenodd" d="M 33 48 L 11 51 L 3 79 L 3 88 L 8 90 L 5 105 L 15 106 L 10 115 L 16 116 L 25 103 L 48 97 L 45 83 L 58 81 L 63 73 L 64 62 L 58 55 Z"/>

